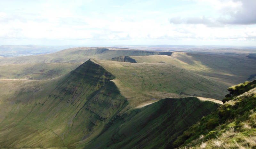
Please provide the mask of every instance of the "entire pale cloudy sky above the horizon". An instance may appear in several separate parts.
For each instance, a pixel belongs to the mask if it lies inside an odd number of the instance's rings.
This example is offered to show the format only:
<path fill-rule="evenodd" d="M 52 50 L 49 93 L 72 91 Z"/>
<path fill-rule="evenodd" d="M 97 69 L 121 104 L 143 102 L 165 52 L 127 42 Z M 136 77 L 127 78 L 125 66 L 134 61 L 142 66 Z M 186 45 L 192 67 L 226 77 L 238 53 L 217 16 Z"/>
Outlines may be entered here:
<path fill-rule="evenodd" d="M 0 0 L 0 45 L 256 46 L 256 0 Z"/>

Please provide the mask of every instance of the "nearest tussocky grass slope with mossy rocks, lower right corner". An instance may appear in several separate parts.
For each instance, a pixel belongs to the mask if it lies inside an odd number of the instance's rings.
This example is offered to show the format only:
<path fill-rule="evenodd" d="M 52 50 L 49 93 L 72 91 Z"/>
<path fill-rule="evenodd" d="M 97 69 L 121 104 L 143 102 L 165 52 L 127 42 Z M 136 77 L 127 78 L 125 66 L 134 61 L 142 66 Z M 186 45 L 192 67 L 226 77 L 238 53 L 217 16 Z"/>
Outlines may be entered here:
<path fill-rule="evenodd" d="M 185 131 L 173 143 L 174 147 L 256 147 L 256 80 L 232 88 L 236 93 L 231 100 Z"/>

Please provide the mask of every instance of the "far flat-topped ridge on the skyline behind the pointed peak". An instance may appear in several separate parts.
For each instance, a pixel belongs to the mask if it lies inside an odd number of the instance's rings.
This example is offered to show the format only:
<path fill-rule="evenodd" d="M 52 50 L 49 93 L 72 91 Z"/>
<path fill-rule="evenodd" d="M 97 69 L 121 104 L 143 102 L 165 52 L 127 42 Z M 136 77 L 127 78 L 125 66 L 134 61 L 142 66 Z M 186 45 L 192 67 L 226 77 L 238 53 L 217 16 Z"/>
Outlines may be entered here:
<path fill-rule="evenodd" d="M 133 49 L 106 48 L 106 47 L 81 47 L 61 50 L 50 54 L 31 55 L 14 58 L 0 58 L 0 64 L 20 63 L 63 63 L 85 62 L 90 58 L 111 59 L 118 56 L 144 56 L 144 55 L 171 55 L 172 52 L 142 51 Z"/>

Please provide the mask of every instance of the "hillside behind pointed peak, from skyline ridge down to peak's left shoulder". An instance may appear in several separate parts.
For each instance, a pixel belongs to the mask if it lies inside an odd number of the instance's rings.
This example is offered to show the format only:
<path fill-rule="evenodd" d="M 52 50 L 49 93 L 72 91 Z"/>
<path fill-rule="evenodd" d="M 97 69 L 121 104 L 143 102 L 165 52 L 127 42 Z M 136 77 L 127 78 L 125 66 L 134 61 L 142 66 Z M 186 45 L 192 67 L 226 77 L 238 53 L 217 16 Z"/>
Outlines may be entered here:
<path fill-rule="evenodd" d="M 71 48 L 50 54 L 0 58 L 0 79 L 52 79 L 66 74 L 90 58 L 111 59 L 122 55 L 171 55 L 172 52 L 120 48 Z"/>

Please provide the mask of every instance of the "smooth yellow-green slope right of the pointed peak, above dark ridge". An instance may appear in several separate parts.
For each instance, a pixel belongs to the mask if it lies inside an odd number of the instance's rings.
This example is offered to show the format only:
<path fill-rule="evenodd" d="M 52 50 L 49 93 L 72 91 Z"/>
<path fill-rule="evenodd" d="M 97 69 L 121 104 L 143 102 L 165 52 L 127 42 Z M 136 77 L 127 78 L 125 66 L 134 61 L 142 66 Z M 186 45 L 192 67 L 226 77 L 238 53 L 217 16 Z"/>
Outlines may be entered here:
<path fill-rule="evenodd" d="M 92 61 L 114 74 L 113 82 L 122 95 L 136 105 L 166 97 L 199 96 L 220 100 L 228 93 L 224 84 L 170 63 Z"/>

